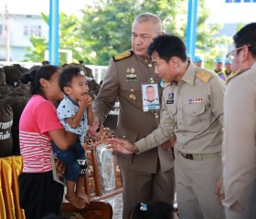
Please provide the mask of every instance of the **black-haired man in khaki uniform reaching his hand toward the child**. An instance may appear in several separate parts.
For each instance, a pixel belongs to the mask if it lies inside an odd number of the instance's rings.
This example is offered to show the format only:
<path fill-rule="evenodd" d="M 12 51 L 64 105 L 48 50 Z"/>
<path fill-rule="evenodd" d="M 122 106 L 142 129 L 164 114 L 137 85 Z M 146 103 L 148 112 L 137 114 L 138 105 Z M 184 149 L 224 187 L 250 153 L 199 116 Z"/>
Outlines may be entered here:
<path fill-rule="evenodd" d="M 215 186 L 222 174 L 225 82 L 187 61 L 186 47 L 177 36 L 156 37 L 148 53 L 155 64 L 155 73 L 166 83 L 160 125 L 134 144 L 124 140 L 109 143 L 114 151 L 141 153 L 170 139 L 173 132 L 180 218 L 225 218 L 224 209 L 215 196 Z"/>

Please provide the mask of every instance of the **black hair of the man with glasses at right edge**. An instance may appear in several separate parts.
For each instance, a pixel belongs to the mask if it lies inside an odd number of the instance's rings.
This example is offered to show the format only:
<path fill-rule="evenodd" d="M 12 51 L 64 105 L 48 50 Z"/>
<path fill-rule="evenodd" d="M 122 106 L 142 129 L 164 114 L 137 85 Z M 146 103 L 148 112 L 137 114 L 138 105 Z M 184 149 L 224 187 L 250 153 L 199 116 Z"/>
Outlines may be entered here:
<path fill-rule="evenodd" d="M 251 23 L 243 26 L 234 36 L 235 47 L 242 47 L 244 45 L 251 45 L 249 51 L 252 57 L 256 58 L 256 23 Z M 237 53 L 240 53 L 238 50 Z"/>

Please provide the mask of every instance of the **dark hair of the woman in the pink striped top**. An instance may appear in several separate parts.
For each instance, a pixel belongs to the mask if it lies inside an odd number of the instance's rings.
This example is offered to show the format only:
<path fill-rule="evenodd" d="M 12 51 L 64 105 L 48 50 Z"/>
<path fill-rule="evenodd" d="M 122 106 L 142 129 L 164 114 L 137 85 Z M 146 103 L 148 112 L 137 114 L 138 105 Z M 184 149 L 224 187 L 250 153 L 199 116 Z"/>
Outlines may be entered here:
<path fill-rule="evenodd" d="M 52 65 L 39 66 L 37 68 L 34 68 L 29 73 L 23 74 L 21 77 L 21 82 L 24 84 L 27 84 L 27 83 L 30 84 L 31 95 L 39 94 L 43 96 L 44 93 L 41 89 L 40 78 L 50 80 L 52 75 L 59 70 L 60 68 L 57 66 L 52 66 Z"/>

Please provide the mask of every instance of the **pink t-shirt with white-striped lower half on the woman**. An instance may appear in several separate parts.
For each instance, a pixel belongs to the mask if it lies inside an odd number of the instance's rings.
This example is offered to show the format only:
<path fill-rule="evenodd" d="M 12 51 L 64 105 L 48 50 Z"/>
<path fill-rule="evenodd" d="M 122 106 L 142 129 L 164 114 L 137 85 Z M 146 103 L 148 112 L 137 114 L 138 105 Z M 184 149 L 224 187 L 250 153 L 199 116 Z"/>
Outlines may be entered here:
<path fill-rule="evenodd" d="M 28 101 L 19 120 L 20 152 L 23 172 L 48 172 L 51 167 L 50 130 L 63 130 L 56 108 L 40 95 Z"/>

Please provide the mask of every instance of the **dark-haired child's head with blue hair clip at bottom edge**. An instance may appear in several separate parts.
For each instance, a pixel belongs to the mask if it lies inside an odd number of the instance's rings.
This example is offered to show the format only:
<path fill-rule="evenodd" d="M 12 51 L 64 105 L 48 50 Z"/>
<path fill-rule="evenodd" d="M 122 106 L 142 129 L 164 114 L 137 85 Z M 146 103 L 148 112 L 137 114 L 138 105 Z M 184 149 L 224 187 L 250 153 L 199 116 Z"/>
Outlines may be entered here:
<path fill-rule="evenodd" d="M 170 203 L 137 203 L 133 206 L 130 219 L 176 219 L 174 207 Z"/>

